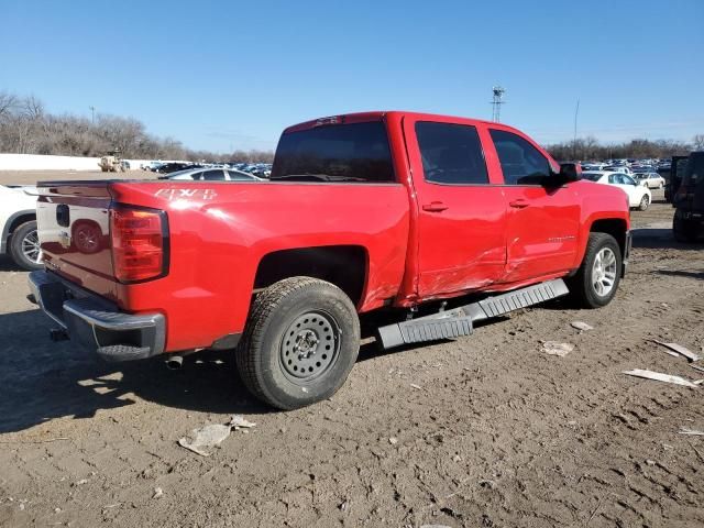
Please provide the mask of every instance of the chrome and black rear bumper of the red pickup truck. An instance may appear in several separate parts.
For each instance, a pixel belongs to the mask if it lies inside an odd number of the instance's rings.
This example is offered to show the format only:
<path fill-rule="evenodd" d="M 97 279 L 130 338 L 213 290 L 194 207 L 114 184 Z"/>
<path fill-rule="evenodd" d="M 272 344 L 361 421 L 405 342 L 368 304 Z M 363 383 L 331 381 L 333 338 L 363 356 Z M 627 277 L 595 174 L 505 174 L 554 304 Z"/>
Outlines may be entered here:
<path fill-rule="evenodd" d="M 162 314 L 131 315 L 45 271 L 30 273 L 34 301 L 72 339 L 107 361 L 143 360 L 164 352 Z"/>

